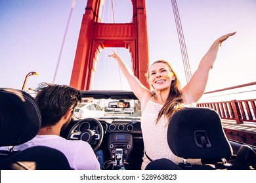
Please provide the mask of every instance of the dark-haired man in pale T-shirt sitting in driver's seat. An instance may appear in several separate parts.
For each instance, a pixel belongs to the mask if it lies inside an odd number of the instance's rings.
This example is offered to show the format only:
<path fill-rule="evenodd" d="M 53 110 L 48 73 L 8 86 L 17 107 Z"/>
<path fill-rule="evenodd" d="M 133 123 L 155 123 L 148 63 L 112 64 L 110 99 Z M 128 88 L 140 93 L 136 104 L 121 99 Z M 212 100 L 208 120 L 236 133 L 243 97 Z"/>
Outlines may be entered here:
<path fill-rule="evenodd" d="M 66 85 L 43 83 L 37 88 L 35 100 L 41 110 L 41 129 L 31 141 L 14 146 L 14 150 L 49 146 L 60 150 L 72 169 L 100 169 L 100 163 L 89 143 L 60 137 L 61 129 L 70 124 L 74 108 L 81 101 L 79 90 Z"/>

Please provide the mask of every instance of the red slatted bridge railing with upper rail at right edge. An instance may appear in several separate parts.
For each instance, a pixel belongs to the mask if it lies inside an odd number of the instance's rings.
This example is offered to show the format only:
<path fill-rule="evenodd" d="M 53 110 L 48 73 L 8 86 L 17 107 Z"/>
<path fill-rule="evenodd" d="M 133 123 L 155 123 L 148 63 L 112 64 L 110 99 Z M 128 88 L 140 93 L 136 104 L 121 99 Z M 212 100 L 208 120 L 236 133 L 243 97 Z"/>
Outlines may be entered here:
<path fill-rule="evenodd" d="M 221 90 L 215 90 L 208 93 L 222 92 L 226 90 L 232 90 L 236 88 L 242 88 L 245 86 L 256 85 L 256 82 L 243 84 L 239 86 L 233 86 L 230 88 L 223 88 Z M 219 101 L 211 103 L 198 103 L 197 107 L 208 107 L 216 110 L 222 119 L 235 120 L 237 124 L 243 124 L 244 122 L 256 123 L 256 99 L 248 100 L 232 100 L 232 101 Z"/>

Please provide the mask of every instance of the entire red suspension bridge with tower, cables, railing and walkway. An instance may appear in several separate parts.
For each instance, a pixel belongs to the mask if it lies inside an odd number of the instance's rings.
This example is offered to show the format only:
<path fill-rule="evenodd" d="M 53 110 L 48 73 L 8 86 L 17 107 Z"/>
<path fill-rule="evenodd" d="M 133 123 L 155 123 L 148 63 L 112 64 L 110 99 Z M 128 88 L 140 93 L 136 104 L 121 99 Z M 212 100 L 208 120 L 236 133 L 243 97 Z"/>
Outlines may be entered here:
<path fill-rule="evenodd" d="M 83 15 L 81 23 L 70 86 L 79 90 L 91 90 L 94 73 L 96 71 L 96 62 L 98 61 L 100 51 L 104 48 L 114 47 L 126 48 L 129 50 L 131 54 L 131 67 L 135 76 L 139 78 L 144 86 L 148 87 L 148 83 L 144 77 L 144 73 L 146 73 L 148 67 L 145 0 L 131 0 L 133 6 L 133 18 L 130 23 L 123 24 L 116 24 L 115 22 L 106 24 L 100 22 L 103 3 L 104 0 L 87 1 L 85 14 Z M 184 73 L 186 75 L 186 82 L 188 82 L 191 78 L 191 71 L 181 19 L 179 17 L 176 1 L 171 0 L 171 4 L 179 37 Z M 72 7 L 74 7 L 73 5 L 74 3 L 72 3 Z M 112 14 L 114 20 L 113 1 Z M 251 82 L 239 86 L 205 92 L 204 95 L 255 85 L 256 82 Z M 197 106 L 213 108 L 219 113 L 223 120 L 223 128 L 228 139 L 256 146 L 255 104 L 256 99 L 233 99 L 230 101 L 198 103 Z"/>

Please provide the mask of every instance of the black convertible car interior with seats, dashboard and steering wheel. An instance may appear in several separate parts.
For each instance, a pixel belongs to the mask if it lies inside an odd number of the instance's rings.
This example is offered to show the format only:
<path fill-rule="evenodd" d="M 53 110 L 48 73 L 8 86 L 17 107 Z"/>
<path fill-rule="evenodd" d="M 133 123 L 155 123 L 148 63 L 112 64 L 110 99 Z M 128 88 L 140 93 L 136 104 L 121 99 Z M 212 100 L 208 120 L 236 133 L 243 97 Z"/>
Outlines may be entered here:
<path fill-rule="evenodd" d="M 81 119 L 74 114 L 60 135 L 72 141 L 89 142 L 95 152 L 102 150 L 103 170 L 140 170 L 144 146 L 137 97 L 129 91 L 81 93 L 81 103 L 96 103 L 105 115 Z M 20 90 L 1 88 L 0 101 L 0 146 L 10 146 L 9 151 L 1 152 L 0 169 L 70 169 L 61 152 L 47 147 L 13 152 L 12 146 L 29 141 L 37 134 L 40 112 L 33 97 Z M 227 139 L 215 110 L 183 108 L 173 114 L 167 132 L 170 149 L 183 161 L 176 165 L 166 163 L 168 159 L 155 159 L 148 169 L 256 168 L 256 147 Z M 52 155 L 54 158 L 46 161 L 48 153 L 60 155 Z M 188 158 L 200 158 L 202 165 L 190 165 L 186 162 Z M 26 164 L 28 161 L 30 164 Z"/>

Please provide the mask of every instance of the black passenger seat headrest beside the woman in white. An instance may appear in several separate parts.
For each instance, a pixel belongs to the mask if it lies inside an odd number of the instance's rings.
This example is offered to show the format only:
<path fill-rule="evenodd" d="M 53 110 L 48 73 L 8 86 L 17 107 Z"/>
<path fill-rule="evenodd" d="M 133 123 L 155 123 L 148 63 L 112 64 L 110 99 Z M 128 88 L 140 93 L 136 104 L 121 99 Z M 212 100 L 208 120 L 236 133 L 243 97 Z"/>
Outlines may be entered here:
<path fill-rule="evenodd" d="M 181 158 L 230 158 L 232 148 L 221 118 L 211 108 L 182 108 L 175 112 L 167 129 L 171 151 Z"/>

